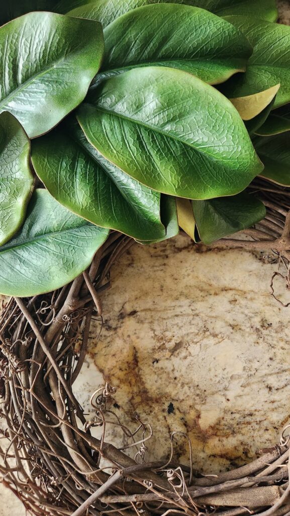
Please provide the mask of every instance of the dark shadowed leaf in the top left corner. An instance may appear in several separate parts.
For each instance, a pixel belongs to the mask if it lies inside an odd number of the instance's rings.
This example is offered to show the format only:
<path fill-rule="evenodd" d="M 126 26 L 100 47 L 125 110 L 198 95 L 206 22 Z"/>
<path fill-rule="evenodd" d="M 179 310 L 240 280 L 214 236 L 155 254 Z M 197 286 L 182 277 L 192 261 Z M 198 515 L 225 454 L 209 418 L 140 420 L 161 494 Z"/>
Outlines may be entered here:
<path fill-rule="evenodd" d="M 30 11 L 53 11 L 56 0 L 4 0 L 0 5 L 0 25 Z"/>

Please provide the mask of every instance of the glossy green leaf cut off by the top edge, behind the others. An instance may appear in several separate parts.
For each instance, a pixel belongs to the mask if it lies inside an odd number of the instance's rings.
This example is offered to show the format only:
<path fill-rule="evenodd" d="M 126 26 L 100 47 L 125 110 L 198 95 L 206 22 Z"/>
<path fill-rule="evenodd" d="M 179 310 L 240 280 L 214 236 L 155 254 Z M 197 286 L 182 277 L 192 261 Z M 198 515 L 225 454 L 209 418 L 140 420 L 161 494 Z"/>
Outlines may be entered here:
<path fill-rule="evenodd" d="M 275 22 L 278 16 L 275 0 L 60 0 L 57 11 L 99 20 L 105 27 L 131 9 L 161 3 L 201 7 L 219 16 L 254 15 L 269 22 Z"/>

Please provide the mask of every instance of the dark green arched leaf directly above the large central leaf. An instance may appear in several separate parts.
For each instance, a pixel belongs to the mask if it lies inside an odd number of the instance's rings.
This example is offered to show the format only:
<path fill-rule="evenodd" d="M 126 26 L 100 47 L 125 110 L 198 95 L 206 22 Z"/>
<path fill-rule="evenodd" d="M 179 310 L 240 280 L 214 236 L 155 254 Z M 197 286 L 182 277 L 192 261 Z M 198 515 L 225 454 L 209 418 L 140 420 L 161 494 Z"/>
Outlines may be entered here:
<path fill-rule="evenodd" d="M 157 65 L 185 70 L 217 84 L 245 71 L 252 53 L 247 39 L 233 25 L 187 5 L 134 9 L 112 22 L 104 38 L 103 68 L 96 82 L 131 68 Z"/>

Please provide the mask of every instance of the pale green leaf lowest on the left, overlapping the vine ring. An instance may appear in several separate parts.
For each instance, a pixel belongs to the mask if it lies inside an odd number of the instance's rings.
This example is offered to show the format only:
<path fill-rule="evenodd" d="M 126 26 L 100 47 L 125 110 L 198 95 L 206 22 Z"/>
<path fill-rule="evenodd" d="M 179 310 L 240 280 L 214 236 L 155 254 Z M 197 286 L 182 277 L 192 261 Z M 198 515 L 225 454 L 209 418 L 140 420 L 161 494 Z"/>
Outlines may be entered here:
<path fill-rule="evenodd" d="M 0 247 L 0 292 L 28 297 L 60 288 L 89 267 L 108 233 L 36 190 L 20 232 Z"/>

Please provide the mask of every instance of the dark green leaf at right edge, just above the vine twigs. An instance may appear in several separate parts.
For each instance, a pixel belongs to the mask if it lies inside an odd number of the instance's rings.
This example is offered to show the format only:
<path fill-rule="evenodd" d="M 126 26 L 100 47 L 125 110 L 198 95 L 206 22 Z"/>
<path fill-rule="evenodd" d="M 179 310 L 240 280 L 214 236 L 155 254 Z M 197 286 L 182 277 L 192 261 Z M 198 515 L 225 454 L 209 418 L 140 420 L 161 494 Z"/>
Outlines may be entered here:
<path fill-rule="evenodd" d="M 290 186 L 290 133 L 256 136 L 253 144 L 265 165 L 261 175 L 279 185 Z"/>

